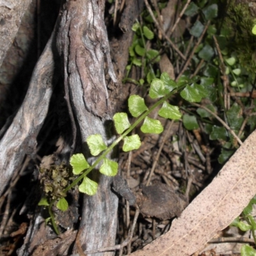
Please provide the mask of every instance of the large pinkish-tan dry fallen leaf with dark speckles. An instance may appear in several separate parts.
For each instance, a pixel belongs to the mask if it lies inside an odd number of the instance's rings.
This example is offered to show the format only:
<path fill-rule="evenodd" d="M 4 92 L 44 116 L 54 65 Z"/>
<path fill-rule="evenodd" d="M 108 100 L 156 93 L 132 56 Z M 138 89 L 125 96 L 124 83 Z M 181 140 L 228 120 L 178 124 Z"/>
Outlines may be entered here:
<path fill-rule="evenodd" d="M 173 220 L 171 229 L 132 256 L 186 256 L 227 227 L 256 194 L 256 131 L 211 184 Z"/>

